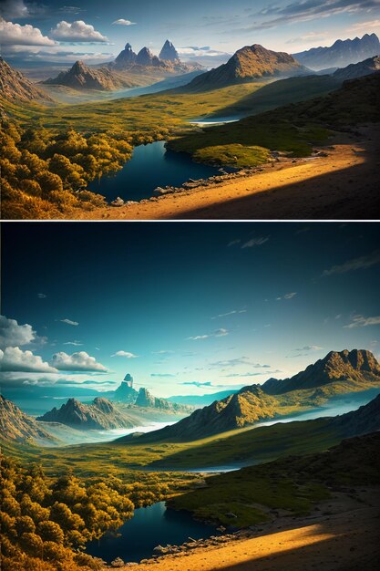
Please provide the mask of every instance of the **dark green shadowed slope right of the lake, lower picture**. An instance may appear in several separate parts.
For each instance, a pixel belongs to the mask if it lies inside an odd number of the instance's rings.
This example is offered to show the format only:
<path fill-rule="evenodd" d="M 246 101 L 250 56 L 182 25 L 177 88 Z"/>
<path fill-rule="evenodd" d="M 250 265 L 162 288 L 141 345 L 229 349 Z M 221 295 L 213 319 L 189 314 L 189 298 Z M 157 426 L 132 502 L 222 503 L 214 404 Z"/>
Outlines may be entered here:
<path fill-rule="evenodd" d="M 170 504 L 221 524 L 247 526 L 268 519 L 268 508 L 308 514 L 331 485 L 378 484 L 380 433 L 343 441 L 335 449 L 242 468 L 207 479 L 207 486 Z M 237 517 L 232 517 L 230 513 Z"/>

